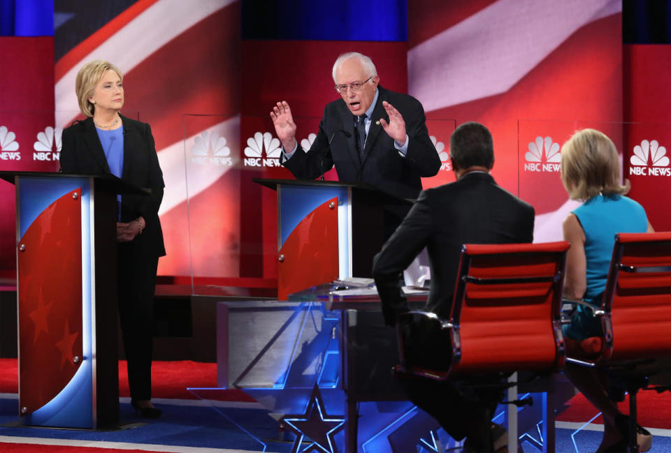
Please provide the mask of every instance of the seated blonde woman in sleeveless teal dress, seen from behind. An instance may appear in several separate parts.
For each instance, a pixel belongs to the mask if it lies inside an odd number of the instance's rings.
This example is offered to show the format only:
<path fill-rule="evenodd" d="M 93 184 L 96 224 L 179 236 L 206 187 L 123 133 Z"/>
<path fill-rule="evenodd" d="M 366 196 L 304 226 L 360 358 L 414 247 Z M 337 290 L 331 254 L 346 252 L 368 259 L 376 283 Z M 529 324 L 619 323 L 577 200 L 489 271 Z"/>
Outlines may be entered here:
<path fill-rule="evenodd" d="M 614 237 L 621 232 L 652 232 L 643 207 L 625 196 L 629 181 L 620 184 L 617 150 L 612 140 L 594 129 L 576 132 L 561 149 L 561 179 L 572 200 L 584 204 L 572 211 L 563 223 L 564 239 L 570 242 L 566 259 L 564 296 L 582 299 L 598 308 L 606 287 Z M 564 329 L 567 347 L 582 353 L 600 348 L 601 321 L 589 308 L 579 306 Z M 603 440 L 597 452 L 625 452 L 628 418 L 607 392 L 602 371 L 567 364 L 565 374 L 598 410 L 603 413 Z M 637 442 L 649 450 L 652 436 L 639 427 Z"/>

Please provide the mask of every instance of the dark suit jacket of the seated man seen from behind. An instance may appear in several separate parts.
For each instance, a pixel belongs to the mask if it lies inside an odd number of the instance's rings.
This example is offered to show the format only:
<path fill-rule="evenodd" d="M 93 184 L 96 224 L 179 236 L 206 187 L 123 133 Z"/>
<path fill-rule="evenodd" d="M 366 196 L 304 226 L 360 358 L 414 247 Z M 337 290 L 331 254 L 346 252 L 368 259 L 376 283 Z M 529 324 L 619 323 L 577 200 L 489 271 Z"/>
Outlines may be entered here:
<path fill-rule="evenodd" d="M 427 247 L 431 292 L 426 309 L 448 319 L 463 244 L 512 244 L 533 240 L 531 205 L 500 188 L 491 175 L 464 174 L 459 181 L 423 191 L 373 261 L 373 276 L 388 325 L 407 311 L 399 274 Z"/>

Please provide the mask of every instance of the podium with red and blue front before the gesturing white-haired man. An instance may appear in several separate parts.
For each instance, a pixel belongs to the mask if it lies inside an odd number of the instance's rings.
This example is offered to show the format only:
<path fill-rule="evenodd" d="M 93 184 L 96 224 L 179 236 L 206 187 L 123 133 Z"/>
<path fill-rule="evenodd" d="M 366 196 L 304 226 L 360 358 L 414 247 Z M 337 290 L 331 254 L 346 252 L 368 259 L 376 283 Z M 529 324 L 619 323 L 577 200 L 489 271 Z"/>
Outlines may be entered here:
<path fill-rule="evenodd" d="M 371 277 L 389 211 L 410 201 L 368 184 L 254 179 L 277 191 L 277 299 L 321 283 Z"/>

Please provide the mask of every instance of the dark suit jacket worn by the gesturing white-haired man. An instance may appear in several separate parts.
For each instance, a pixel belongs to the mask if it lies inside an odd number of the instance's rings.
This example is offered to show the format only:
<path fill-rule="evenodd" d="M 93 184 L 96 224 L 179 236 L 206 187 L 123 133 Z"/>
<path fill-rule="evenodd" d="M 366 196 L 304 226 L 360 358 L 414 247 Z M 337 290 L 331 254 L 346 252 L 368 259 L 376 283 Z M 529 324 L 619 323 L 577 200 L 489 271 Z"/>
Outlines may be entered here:
<path fill-rule="evenodd" d="M 401 198 L 417 198 L 421 191 L 420 178 L 434 176 L 440 169 L 438 152 L 428 138 L 424 124 L 424 109 L 412 96 L 389 91 L 380 85 L 378 89 L 380 95 L 373 110 L 363 163 L 356 147 L 354 115 L 345 101 L 338 99 L 324 108 L 319 133 L 310 151 L 305 153 L 299 145 L 296 153 L 283 165 L 298 179 L 315 179 L 335 165 L 340 181 L 365 182 Z M 382 101 L 387 101 L 403 115 L 410 138 L 405 157 L 399 156 L 394 140 L 378 123 L 380 118 L 389 121 Z M 339 131 L 347 131 L 349 138 Z"/>

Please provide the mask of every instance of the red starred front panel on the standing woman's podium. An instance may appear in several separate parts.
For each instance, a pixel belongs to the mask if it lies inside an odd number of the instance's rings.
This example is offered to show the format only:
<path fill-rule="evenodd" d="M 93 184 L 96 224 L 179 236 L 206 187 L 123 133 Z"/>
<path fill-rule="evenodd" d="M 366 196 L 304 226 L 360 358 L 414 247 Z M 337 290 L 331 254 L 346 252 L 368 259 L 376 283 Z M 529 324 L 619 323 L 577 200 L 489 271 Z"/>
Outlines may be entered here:
<path fill-rule="evenodd" d="M 19 242 L 20 407 L 34 413 L 75 376 L 82 357 L 81 188 L 62 195 Z M 44 376 L 49 376 L 45 379 Z"/>

